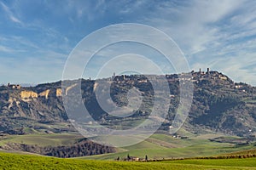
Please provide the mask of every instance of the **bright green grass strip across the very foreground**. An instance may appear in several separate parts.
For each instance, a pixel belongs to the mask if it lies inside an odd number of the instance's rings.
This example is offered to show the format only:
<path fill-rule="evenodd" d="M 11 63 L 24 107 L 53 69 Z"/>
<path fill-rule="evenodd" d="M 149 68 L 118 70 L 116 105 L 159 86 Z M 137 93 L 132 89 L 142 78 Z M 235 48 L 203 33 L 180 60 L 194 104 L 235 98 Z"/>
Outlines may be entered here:
<path fill-rule="evenodd" d="M 91 161 L 0 153 L 0 169 L 256 169 L 256 158 L 179 161 Z"/>

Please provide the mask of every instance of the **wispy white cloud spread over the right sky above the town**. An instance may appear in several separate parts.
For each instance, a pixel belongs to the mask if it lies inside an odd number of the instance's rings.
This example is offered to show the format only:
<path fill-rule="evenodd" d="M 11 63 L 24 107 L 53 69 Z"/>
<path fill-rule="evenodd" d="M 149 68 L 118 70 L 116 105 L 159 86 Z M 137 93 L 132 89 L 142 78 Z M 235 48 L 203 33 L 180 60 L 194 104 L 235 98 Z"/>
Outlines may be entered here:
<path fill-rule="evenodd" d="M 253 69 L 245 69 L 256 63 L 255 7 L 254 1 L 172 1 L 157 3 L 140 20 L 172 37 L 191 68 L 211 67 L 255 85 Z"/>

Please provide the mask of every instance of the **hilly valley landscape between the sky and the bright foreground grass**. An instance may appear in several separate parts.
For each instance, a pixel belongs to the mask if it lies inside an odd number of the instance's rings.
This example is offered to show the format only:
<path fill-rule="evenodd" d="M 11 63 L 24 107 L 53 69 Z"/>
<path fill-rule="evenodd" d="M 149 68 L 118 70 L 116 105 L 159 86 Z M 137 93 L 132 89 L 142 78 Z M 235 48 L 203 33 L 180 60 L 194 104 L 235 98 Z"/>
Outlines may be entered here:
<path fill-rule="evenodd" d="M 7 152 L 112 161 L 117 157 L 125 159 L 128 154 L 142 159 L 147 155 L 148 159 L 159 160 L 218 156 L 255 149 L 255 88 L 246 83 L 233 82 L 218 71 L 191 71 L 189 74 L 192 77 L 185 81 L 193 82 L 194 97 L 183 127 L 177 133 L 169 133 L 179 102 L 178 77 L 182 75 L 166 75 L 172 94 L 166 121 L 150 138 L 121 148 L 90 142 L 73 127 L 73 120 L 67 116 L 61 96 L 76 95 L 73 89 L 79 80 L 68 81 L 70 85 L 64 88 L 61 88 L 61 82 L 30 88 L 2 86 L 0 148 Z M 117 105 L 127 105 L 125 94 L 132 87 L 143 93 L 143 103 L 131 116 L 120 118 L 108 115 L 96 99 L 98 82 L 81 79 L 84 105 L 95 121 L 114 129 L 128 129 L 148 119 L 154 98 L 159 96 L 154 96 L 147 77 L 116 76 L 106 80 L 112 83 L 110 95 Z M 86 126 L 95 127 L 93 123 Z"/>

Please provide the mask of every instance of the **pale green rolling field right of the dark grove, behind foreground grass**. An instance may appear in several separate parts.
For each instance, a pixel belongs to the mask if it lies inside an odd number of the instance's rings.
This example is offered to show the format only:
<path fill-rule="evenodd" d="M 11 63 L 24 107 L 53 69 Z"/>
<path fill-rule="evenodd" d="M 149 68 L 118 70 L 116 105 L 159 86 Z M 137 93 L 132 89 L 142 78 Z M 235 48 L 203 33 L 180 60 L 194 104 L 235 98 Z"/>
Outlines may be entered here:
<path fill-rule="evenodd" d="M 236 146 L 236 144 L 212 142 L 202 137 L 175 139 L 166 134 L 154 134 L 149 139 L 146 139 L 139 144 L 123 147 L 122 150 L 117 153 L 99 156 L 84 156 L 76 159 L 114 160 L 118 156 L 120 158 L 125 158 L 128 154 L 130 156 L 141 158 L 144 158 L 147 155 L 149 159 L 217 156 L 255 148 L 256 146 L 254 144 Z"/>

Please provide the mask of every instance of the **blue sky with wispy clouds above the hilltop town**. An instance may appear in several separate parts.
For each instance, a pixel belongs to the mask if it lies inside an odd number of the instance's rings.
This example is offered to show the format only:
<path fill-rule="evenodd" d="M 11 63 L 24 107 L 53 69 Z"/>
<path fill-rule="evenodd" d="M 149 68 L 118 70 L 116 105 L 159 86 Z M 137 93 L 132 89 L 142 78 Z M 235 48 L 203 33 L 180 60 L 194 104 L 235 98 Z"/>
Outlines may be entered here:
<path fill-rule="evenodd" d="M 191 70 L 209 67 L 236 82 L 256 85 L 253 0 L 0 0 L 0 83 L 59 81 L 69 54 L 84 37 L 121 23 L 165 32 L 182 50 Z M 165 67 L 154 50 L 120 42 L 100 51 L 84 75 L 95 77 L 110 55 L 125 53 L 148 56 Z M 164 70 L 173 72 L 169 67 Z"/>

